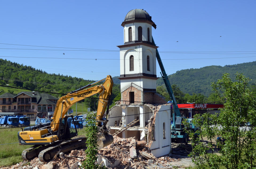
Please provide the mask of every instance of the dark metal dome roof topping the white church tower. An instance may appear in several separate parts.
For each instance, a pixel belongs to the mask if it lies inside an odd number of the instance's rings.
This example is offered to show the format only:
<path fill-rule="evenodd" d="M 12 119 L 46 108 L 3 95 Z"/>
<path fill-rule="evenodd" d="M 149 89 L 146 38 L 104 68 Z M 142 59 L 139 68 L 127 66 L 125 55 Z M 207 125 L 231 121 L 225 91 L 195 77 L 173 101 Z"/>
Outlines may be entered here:
<path fill-rule="evenodd" d="M 151 25 L 154 28 L 157 28 L 156 24 L 151 20 L 151 16 L 143 9 L 133 9 L 129 11 L 125 16 L 125 20 L 123 21 L 122 26 L 131 21 L 151 22 Z"/>

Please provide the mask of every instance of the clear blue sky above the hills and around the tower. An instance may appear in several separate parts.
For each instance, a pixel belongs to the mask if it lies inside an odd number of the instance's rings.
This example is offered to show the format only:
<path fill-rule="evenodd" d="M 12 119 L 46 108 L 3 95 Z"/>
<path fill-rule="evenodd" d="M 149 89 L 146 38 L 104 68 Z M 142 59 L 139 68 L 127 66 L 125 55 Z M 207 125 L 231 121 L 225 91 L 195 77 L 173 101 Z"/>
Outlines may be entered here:
<path fill-rule="evenodd" d="M 159 2 L 130 0 L 129 3 L 128 1 L 1 1 L 0 43 L 119 51 L 116 46 L 123 44 L 121 23 L 125 15 L 132 9 L 144 9 L 157 25 L 152 35 L 159 46 L 158 51 L 178 52 L 160 53 L 167 74 L 173 74 L 182 69 L 255 61 L 255 5 L 256 1 L 252 0 Z M 5 44 L 0 44 L 0 48 L 16 49 L 0 49 L 0 58 L 42 69 L 48 73 L 60 73 L 90 80 L 105 78 L 107 74 L 120 75 L 118 51 L 67 51 L 67 49 L 63 51 L 64 48 Z M 241 52 L 230 53 L 230 51 Z M 218 54 L 198 54 L 209 52 Z M 78 60 L 78 58 L 93 60 Z M 159 65 L 157 72 L 159 77 Z"/>

